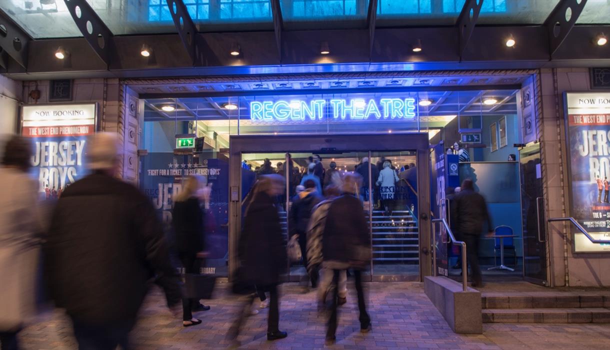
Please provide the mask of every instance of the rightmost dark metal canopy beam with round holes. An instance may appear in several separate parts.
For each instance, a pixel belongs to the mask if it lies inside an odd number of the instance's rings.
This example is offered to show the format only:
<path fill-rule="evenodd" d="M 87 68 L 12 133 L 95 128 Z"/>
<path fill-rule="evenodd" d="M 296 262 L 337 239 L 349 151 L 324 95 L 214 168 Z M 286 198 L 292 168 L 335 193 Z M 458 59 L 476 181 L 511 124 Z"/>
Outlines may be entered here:
<path fill-rule="evenodd" d="M 576 24 L 578 16 L 583 12 L 587 0 L 561 0 L 553 9 L 544 26 L 547 27 L 549 38 L 549 54 L 551 57 L 559 49 L 565 38 Z"/>

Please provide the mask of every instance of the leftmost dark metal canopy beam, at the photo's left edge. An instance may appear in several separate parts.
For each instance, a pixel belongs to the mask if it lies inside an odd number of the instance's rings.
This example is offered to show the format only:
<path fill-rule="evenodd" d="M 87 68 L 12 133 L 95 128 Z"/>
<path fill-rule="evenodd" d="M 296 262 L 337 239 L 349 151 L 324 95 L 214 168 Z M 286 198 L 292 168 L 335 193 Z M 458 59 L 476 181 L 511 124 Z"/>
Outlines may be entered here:
<path fill-rule="evenodd" d="M 4 29 L 0 29 L 0 48 L 27 69 L 27 48 L 31 38 L 4 11 L 0 11 L 0 25 L 4 26 Z M 5 65 L 9 62 L 6 54 L 2 54 L 2 63 Z"/>

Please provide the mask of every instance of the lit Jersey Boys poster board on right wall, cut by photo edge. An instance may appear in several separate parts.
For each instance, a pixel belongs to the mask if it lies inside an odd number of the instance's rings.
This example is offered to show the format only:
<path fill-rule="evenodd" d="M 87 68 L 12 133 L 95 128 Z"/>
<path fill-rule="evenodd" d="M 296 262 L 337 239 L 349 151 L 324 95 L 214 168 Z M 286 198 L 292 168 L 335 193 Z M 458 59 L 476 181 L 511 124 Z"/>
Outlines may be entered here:
<path fill-rule="evenodd" d="M 566 93 L 570 213 L 593 237 L 610 235 L 610 93 Z M 575 252 L 610 251 L 575 232 Z"/>

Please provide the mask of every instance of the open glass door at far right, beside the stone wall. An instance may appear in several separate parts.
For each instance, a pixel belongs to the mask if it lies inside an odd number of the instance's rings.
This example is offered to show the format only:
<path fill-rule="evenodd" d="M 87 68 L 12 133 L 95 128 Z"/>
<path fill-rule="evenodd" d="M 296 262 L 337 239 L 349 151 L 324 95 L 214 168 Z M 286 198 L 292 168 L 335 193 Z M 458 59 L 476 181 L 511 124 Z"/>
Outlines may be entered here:
<path fill-rule="evenodd" d="M 542 196 L 540 144 L 529 143 L 519 154 L 523 191 L 523 277 L 529 282 L 547 285 L 547 226 Z"/>

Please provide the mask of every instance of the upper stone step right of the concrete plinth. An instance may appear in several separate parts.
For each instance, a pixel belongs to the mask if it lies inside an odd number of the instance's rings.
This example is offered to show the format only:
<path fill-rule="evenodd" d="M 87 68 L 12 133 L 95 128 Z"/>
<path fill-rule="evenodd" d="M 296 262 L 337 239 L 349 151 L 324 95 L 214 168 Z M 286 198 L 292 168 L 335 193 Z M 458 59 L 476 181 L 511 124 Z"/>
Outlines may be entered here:
<path fill-rule="evenodd" d="M 610 295 L 573 293 L 483 293 L 483 309 L 556 309 L 610 307 Z"/>

